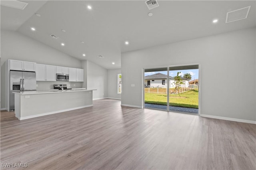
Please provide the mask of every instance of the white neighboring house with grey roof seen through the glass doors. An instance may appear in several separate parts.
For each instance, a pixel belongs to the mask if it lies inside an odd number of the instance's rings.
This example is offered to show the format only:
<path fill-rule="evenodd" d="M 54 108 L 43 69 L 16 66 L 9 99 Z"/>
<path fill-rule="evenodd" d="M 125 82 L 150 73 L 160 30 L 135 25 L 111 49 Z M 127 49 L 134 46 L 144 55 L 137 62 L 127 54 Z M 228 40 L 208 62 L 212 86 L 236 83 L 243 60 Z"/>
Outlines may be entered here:
<path fill-rule="evenodd" d="M 184 77 L 181 77 L 182 87 L 188 87 L 188 80 Z M 174 77 L 169 76 L 170 81 L 170 87 L 175 87 L 174 85 Z M 167 88 L 167 75 L 162 73 L 156 73 L 153 75 L 147 75 L 144 78 L 144 86 L 145 87 L 161 87 L 161 88 Z"/>

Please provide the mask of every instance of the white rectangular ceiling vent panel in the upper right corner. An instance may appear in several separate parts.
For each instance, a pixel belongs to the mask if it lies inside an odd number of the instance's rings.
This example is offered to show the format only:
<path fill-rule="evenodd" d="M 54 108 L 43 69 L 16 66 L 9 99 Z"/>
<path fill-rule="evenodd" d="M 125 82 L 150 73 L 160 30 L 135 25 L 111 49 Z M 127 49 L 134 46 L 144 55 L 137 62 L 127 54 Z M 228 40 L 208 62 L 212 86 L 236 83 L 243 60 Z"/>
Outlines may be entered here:
<path fill-rule="evenodd" d="M 247 6 L 238 10 L 227 12 L 226 23 L 246 19 L 251 6 Z"/>

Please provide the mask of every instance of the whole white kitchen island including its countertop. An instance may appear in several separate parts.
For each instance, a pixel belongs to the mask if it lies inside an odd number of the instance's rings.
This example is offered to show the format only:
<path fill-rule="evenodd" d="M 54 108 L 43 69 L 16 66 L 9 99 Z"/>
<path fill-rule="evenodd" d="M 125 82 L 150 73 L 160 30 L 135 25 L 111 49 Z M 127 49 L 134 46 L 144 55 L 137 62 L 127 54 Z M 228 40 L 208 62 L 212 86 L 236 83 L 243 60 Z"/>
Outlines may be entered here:
<path fill-rule="evenodd" d="M 15 117 L 24 120 L 90 107 L 92 91 L 71 89 L 14 92 Z"/>

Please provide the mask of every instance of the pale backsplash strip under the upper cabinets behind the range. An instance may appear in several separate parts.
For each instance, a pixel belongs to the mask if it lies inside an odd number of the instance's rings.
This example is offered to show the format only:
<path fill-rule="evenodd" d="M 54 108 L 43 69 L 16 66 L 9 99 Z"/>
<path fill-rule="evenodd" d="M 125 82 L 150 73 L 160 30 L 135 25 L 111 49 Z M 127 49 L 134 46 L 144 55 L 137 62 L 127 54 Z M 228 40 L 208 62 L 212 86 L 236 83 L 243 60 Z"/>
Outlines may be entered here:
<path fill-rule="evenodd" d="M 69 82 L 69 81 L 36 81 L 38 87 L 36 90 L 53 89 L 54 84 L 66 84 L 68 89 L 82 88 L 83 82 Z"/>

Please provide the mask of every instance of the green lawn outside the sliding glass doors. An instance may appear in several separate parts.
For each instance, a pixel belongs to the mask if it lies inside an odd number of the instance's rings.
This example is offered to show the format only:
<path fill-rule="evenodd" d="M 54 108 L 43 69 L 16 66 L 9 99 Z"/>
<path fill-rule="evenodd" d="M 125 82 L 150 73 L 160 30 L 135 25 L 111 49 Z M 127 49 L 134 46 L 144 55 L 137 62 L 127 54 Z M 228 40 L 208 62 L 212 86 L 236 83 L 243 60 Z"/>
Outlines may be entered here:
<path fill-rule="evenodd" d="M 177 94 L 170 94 L 170 106 L 188 107 L 198 109 L 198 89 L 193 89 Z M 145 103 L 167 105 L 167 95 L 157 93 L 145 93 Z"/>

